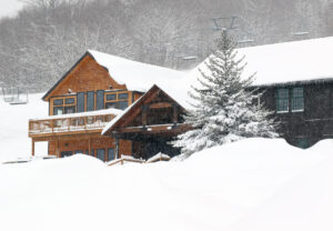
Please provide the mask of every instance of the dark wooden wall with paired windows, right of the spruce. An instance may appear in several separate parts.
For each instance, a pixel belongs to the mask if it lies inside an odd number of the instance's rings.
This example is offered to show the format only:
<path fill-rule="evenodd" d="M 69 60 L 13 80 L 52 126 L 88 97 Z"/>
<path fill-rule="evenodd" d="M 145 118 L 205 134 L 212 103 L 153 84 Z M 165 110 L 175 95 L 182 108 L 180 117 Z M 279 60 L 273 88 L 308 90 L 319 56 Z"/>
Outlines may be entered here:
<path fill-rule="evenodd" d="M 304 110 L 286 112 L 276 111 L 278 89 L 287 89 L 289 106 L 292 101 L 292 90 L 303 89 Z M 274 117 L 281 121 L 279 133 L 293 145 L 307 148 L 319 140 L 333 138 L 333 83 L 299 83 L 262 88 L 264 91 L 261 103 L 274 111 Z"/>

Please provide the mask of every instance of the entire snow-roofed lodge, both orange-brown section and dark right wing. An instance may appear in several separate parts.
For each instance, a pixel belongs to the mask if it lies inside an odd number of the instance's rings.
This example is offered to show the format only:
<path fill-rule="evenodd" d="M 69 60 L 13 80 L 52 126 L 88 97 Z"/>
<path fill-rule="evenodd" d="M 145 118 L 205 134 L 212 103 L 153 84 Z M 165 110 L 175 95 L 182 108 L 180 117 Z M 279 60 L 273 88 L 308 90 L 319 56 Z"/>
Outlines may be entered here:
<path fill-rule="evenodd" d="M 333 138 L 333 38 L 243 48 L 256 72 L 258 103 L 274 111 L 280 134 L 300 148 Z M 199 66 L 200 67 L 200 66 Z M 43 97 L 49 117 L 29 121 L 29 137 L 49 154 L 87 153 L 103 161 L 121 154 L 174 155 L 169 143 L 190 128 L 181 114 L 198 68 L 184 74 L 88 51 Z"/>

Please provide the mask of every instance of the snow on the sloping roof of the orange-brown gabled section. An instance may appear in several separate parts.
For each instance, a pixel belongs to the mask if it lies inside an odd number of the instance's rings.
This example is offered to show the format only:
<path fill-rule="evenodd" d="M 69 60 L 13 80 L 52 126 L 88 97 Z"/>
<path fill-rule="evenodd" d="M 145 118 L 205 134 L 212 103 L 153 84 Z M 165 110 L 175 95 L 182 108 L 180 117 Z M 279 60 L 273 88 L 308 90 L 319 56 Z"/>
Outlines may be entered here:
<path fill-rule="evenodd" d="M 132 91 L 148 91 L 157 84 L 183 107 L 186 107 L 188 91 L 183 91 L 185 72 L 128 60 L 124 58 L 88 51 L 94 60 L 107 68 L 110 76 Z"/>

